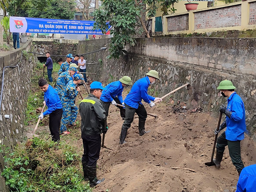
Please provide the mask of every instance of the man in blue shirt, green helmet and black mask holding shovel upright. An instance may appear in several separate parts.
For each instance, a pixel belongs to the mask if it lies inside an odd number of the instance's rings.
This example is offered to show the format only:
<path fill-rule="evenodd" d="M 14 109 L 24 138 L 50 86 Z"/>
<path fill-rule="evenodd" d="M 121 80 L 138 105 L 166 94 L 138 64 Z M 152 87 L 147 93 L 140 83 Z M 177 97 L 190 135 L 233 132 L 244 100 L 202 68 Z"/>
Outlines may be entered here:
<path fill-rule="evenodd" d="M 246 131 L 244 102 L 236 94 L 236 87 L 231 81 L 221 81 L 217 89 L 221 91 L 223 97 L 228 97 L 228 107 L 226 108 L 223 104 L 220 106 L 220 112 L 226 115 L 226 120 L 220 125 L 219 131 L 215 130 L 215 134 L 218 134 L 225 127 L 227 129 L 217 139 L 217 153 L 214 163 L 217 168 L 220 168 L 225 147 L 228 146 L 229 156 L 236 166 L 238 175 L 240 175 L 244 168 L 240 147 L 240 141 L 244 139 L 244 132 Z"/>

